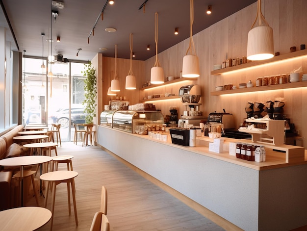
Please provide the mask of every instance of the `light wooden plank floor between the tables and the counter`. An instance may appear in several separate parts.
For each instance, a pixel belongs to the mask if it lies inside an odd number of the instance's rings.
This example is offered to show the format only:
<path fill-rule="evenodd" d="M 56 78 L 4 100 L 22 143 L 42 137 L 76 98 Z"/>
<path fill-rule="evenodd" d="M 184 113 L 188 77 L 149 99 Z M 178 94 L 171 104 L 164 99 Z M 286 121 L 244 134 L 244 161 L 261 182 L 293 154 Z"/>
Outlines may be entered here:
<path fill-rule="evenodd" d="M 79 224 L 75 224 L 73 206 L 68 214 L 67 186 L 61 183 L 56 191 L 53 231 L 89 230 L 100 207 L 102 185 L 108 191 L 111 231 L 223 231 L 97 146 L 82 148 L 81 144 L 62 143 L 58 154 L 74 155 L 74 171 L 79 173 L 75 180 Z M 65 164 L 59 165 L 59 170 L 65 169 Z M 39 200 L 43 206 L 43 197 Z M 30 198 L 26 205 L 35 206 L 35 199 Z M 50 200 L 47 208 L 51 208 Z M 49 229 L 47 223 L 39 230 Z"/>

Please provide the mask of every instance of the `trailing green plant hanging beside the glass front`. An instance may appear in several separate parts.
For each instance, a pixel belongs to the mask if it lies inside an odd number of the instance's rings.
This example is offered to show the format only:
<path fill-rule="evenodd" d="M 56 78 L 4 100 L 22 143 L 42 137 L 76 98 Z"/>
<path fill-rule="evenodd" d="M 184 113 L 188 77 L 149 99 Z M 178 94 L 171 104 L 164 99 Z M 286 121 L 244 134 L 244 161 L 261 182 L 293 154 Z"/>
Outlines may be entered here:
<path fill-rule="evenodd" d="M 84 79 L 84 101 L 83 105 L 85 105 L 84 112 L 85 123 L 93 124 L 93 118 L 96 116 L 96 100 L 97 100 L 97 78 L 95 76 L 95 69 L 92 66 L 92 63 L 89 62 L 84 64 L 85 71 L 82 71 Z"/>

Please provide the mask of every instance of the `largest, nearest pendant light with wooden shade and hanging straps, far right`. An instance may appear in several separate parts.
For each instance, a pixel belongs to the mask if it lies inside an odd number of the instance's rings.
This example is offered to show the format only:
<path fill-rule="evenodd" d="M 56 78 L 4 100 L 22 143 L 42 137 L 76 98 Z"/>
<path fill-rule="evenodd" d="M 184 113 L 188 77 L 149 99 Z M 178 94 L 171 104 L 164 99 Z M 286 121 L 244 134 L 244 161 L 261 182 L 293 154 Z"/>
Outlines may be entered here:
<path fill-rule="evenodd" d="M 261 0 L 257 1 L 256 19 L 248 32 L 246 56 L 249 60 L 264 60 L 274 56 L 273 29 L 261 13 Z"/>

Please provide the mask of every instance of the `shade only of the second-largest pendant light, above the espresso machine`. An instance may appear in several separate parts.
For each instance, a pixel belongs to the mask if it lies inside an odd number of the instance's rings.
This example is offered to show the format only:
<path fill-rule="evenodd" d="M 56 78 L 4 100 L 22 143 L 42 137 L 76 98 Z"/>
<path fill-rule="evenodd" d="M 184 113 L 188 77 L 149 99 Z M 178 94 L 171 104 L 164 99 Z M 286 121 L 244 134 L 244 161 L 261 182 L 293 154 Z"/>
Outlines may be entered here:
<path fill-rule="evenodd" d="M 199 77 L 199 59 L 197 55 L 187 54 L 183 57 L 182 77 L 194 78 Z"/>

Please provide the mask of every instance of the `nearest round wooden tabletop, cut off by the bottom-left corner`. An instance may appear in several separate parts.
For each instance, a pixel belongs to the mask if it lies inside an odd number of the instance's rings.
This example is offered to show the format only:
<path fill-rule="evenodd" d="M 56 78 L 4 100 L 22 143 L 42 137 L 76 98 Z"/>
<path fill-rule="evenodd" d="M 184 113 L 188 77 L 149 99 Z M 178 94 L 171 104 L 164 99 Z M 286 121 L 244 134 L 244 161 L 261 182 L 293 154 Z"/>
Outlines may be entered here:
<path fill-rule="evenodd" d="M 42 207 L 19 207 L 0 211 L 0 231 L 33 231 L 44 226 L 52 213 Z"/>

